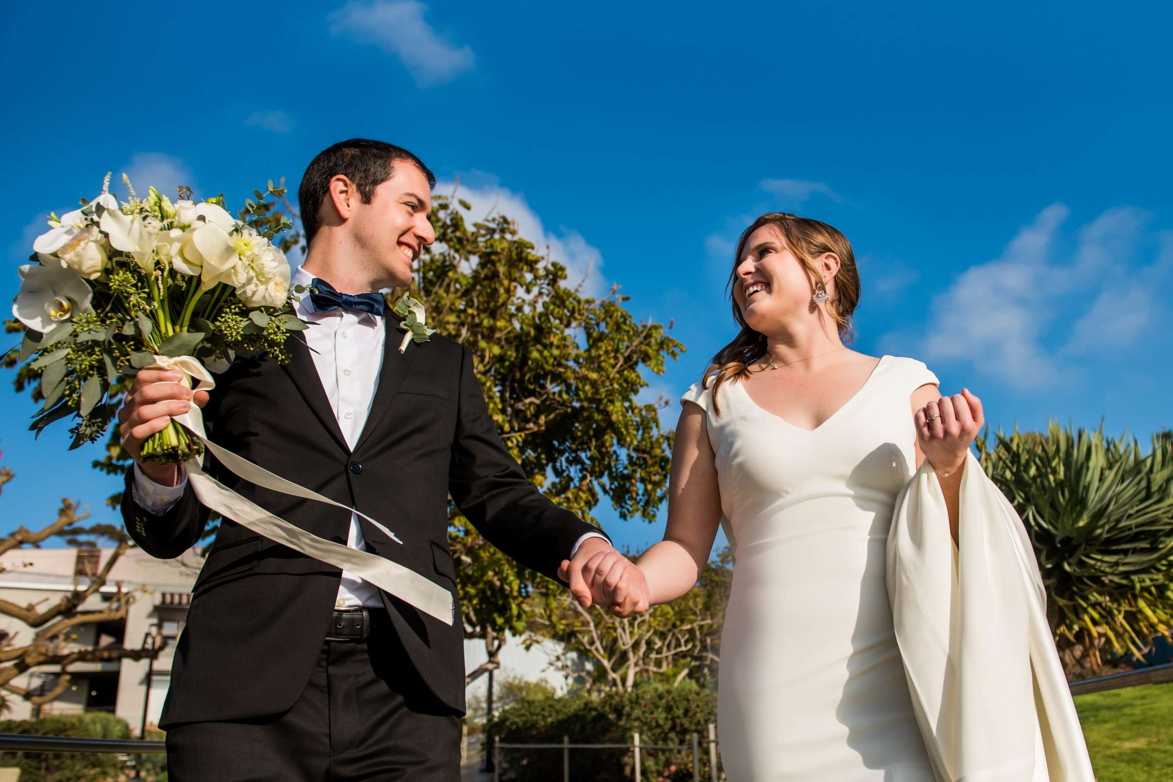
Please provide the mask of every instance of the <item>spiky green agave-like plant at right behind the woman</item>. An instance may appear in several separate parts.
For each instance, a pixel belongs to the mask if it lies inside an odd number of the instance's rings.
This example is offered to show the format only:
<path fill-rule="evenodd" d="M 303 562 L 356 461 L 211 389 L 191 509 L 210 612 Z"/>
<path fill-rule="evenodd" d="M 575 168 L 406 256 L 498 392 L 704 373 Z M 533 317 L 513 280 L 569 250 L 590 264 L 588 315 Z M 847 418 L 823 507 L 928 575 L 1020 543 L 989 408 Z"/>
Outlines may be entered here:
<path fill-rule="evenodd" d="M 1138 659 L 1173 626 L 1173 441 L 1047 424 L 1046 434 L 989 431 L 977 450 L 1022 517 L 1046 586 L 1060 650 L 1100 647 Z"/>

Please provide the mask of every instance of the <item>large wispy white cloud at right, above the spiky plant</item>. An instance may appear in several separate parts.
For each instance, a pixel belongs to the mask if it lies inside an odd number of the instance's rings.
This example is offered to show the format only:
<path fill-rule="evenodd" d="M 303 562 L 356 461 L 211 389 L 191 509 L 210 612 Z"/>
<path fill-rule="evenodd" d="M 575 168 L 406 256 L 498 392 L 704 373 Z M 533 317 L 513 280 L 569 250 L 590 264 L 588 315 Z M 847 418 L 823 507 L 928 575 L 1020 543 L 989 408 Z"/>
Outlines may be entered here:
<path fill-rule="evenodd" d="M 1078 354 L 1134 346 L 1162 317 L 1153 291 L 1173 252 L 1167 245 L 1157 261 L 1137 261 L 1145 215 L 1130 208 L 1105 211 L 1066 250 L 1067 216 L 1062 204 L 1047 206 L 998 258 L 937 294 L 923 358 L 968 361 L 1010 386 L 1038 388 L 1073 381 Z"/>

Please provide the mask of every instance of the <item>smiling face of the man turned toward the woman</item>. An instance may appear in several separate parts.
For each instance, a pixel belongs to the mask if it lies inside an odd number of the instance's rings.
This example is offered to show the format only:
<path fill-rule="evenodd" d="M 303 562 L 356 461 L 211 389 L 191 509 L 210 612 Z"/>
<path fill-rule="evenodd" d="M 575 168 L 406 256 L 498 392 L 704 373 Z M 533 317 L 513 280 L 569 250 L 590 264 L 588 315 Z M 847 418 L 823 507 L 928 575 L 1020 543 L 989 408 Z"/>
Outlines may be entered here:
<path fill-rule="evenodd" d="M 395 161 L 391 178 L 375 188 L 369 204 L 355 204 L 355 239 L 381 267 L 387 287 L 408 285 L 425 245 L 435 242 L 430 211 L 427 177 L 408 161 Z"/>

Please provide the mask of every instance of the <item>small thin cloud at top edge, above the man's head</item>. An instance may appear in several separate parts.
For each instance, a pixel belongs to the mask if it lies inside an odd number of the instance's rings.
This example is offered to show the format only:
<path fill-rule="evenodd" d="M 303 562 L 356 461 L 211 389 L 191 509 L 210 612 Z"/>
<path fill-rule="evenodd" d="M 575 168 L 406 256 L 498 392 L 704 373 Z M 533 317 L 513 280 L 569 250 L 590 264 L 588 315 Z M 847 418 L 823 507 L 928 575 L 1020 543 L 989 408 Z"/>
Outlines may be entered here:
<path fill-rule="evenodd" d="M 467 46 L 438 35 L 423 21 L 426 11 L 416 0 L 353 0 L 330 15 L 330 32 L 395 55 L 418 87 L 443 84 L 472 70 L 475 57 Z"/>

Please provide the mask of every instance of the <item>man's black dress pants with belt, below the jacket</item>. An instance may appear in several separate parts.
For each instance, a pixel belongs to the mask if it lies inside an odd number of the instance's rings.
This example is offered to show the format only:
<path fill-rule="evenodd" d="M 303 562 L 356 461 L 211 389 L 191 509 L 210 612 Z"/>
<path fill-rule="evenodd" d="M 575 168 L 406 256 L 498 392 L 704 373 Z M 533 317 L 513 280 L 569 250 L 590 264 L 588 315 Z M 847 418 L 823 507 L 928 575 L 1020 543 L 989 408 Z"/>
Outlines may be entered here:
<path fill-rule="evenodd" d="M 271 718 L 167 733 L 171 782 L 459 782 L 460 718 L 426 691 L 389 626 L 326 641 L 305 692 Z"/>

